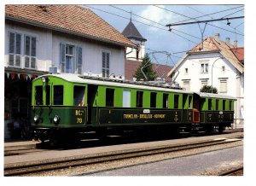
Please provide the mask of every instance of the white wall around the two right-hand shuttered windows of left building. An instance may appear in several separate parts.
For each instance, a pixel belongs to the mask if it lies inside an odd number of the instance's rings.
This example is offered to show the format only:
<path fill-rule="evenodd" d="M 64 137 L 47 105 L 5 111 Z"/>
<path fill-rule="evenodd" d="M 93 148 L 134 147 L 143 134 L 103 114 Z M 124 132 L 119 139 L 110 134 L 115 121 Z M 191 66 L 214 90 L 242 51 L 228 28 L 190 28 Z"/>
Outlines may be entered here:
<path fill-rule="evenodd" d="M 53 35 L 53 64 L 52 67 L 57 67 L 60 73 L 60 44 L 71 44 L 82 47 L 83 74 L 89 72 L 94 75 L 102 76 L 102 51 L 110 53 L 109 74 L 125 76 L 125 51 L 122 47 L 116 47 L 100 42 L 91 42 L 86 39 L 77 37 L 63 37 L 60 34 Z"/>

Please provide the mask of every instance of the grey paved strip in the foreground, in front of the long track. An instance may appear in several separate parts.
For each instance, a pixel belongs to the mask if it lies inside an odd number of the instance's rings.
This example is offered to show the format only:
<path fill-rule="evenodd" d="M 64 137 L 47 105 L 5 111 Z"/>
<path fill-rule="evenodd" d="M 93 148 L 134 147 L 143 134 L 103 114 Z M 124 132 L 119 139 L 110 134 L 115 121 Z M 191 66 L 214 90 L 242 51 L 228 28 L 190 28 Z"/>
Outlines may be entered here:
<path fill-rule="evenodd" d="M 224 170 L 229 166 L 242 165 L 243 147 L 227 148 L 205 154 L 140 166 L 131 166 L 113 171 L 103 171 L 88 176 L 195 176 Z"/>

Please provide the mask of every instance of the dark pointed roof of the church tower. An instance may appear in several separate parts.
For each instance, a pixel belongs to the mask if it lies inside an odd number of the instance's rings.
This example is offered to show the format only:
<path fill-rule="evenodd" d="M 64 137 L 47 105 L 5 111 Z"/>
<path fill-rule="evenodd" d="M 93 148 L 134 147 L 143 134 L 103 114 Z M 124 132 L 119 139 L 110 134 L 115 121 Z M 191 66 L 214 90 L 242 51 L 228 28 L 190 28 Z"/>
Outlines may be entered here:
<path fill-rule="evenodd" d="M 131 22 L 128 23 L 128 25 L 125 27 L 124 31 L 122 32 L 123 35 L 125 35 L 126 38 L 129 39 L 135 39 L 138 41 L 147 41 L 146 38 L 143 38 L 143 36 L 138 32 L 136 26 Z"/>

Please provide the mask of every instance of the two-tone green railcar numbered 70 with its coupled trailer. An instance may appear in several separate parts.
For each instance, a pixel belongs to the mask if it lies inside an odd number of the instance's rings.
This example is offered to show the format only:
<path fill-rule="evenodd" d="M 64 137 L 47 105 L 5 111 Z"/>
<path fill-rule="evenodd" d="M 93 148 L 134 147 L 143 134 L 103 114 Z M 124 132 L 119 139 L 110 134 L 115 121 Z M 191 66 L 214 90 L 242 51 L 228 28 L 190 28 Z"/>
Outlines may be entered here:
<path fill-rule="evenodd" d="M 165 85 L 47 74 L 32 82 L 32 127 L 43 142 L 90 131 L 98 137 L 139 129 L 190 131 L 195 124 L 223 131 L 233 122 L 234 101 Z"/>

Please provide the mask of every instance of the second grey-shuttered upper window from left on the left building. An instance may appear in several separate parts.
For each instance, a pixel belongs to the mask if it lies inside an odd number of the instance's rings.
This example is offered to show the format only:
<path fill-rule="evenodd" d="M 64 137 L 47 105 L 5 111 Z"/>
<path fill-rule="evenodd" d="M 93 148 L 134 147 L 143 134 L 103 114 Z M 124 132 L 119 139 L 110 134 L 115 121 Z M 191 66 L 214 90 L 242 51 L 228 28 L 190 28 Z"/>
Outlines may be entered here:
<path fill-rule="evenodd" d="M 24 43 L 25 67 L 36 68 L 37 38 L 25 36 Z"/>

